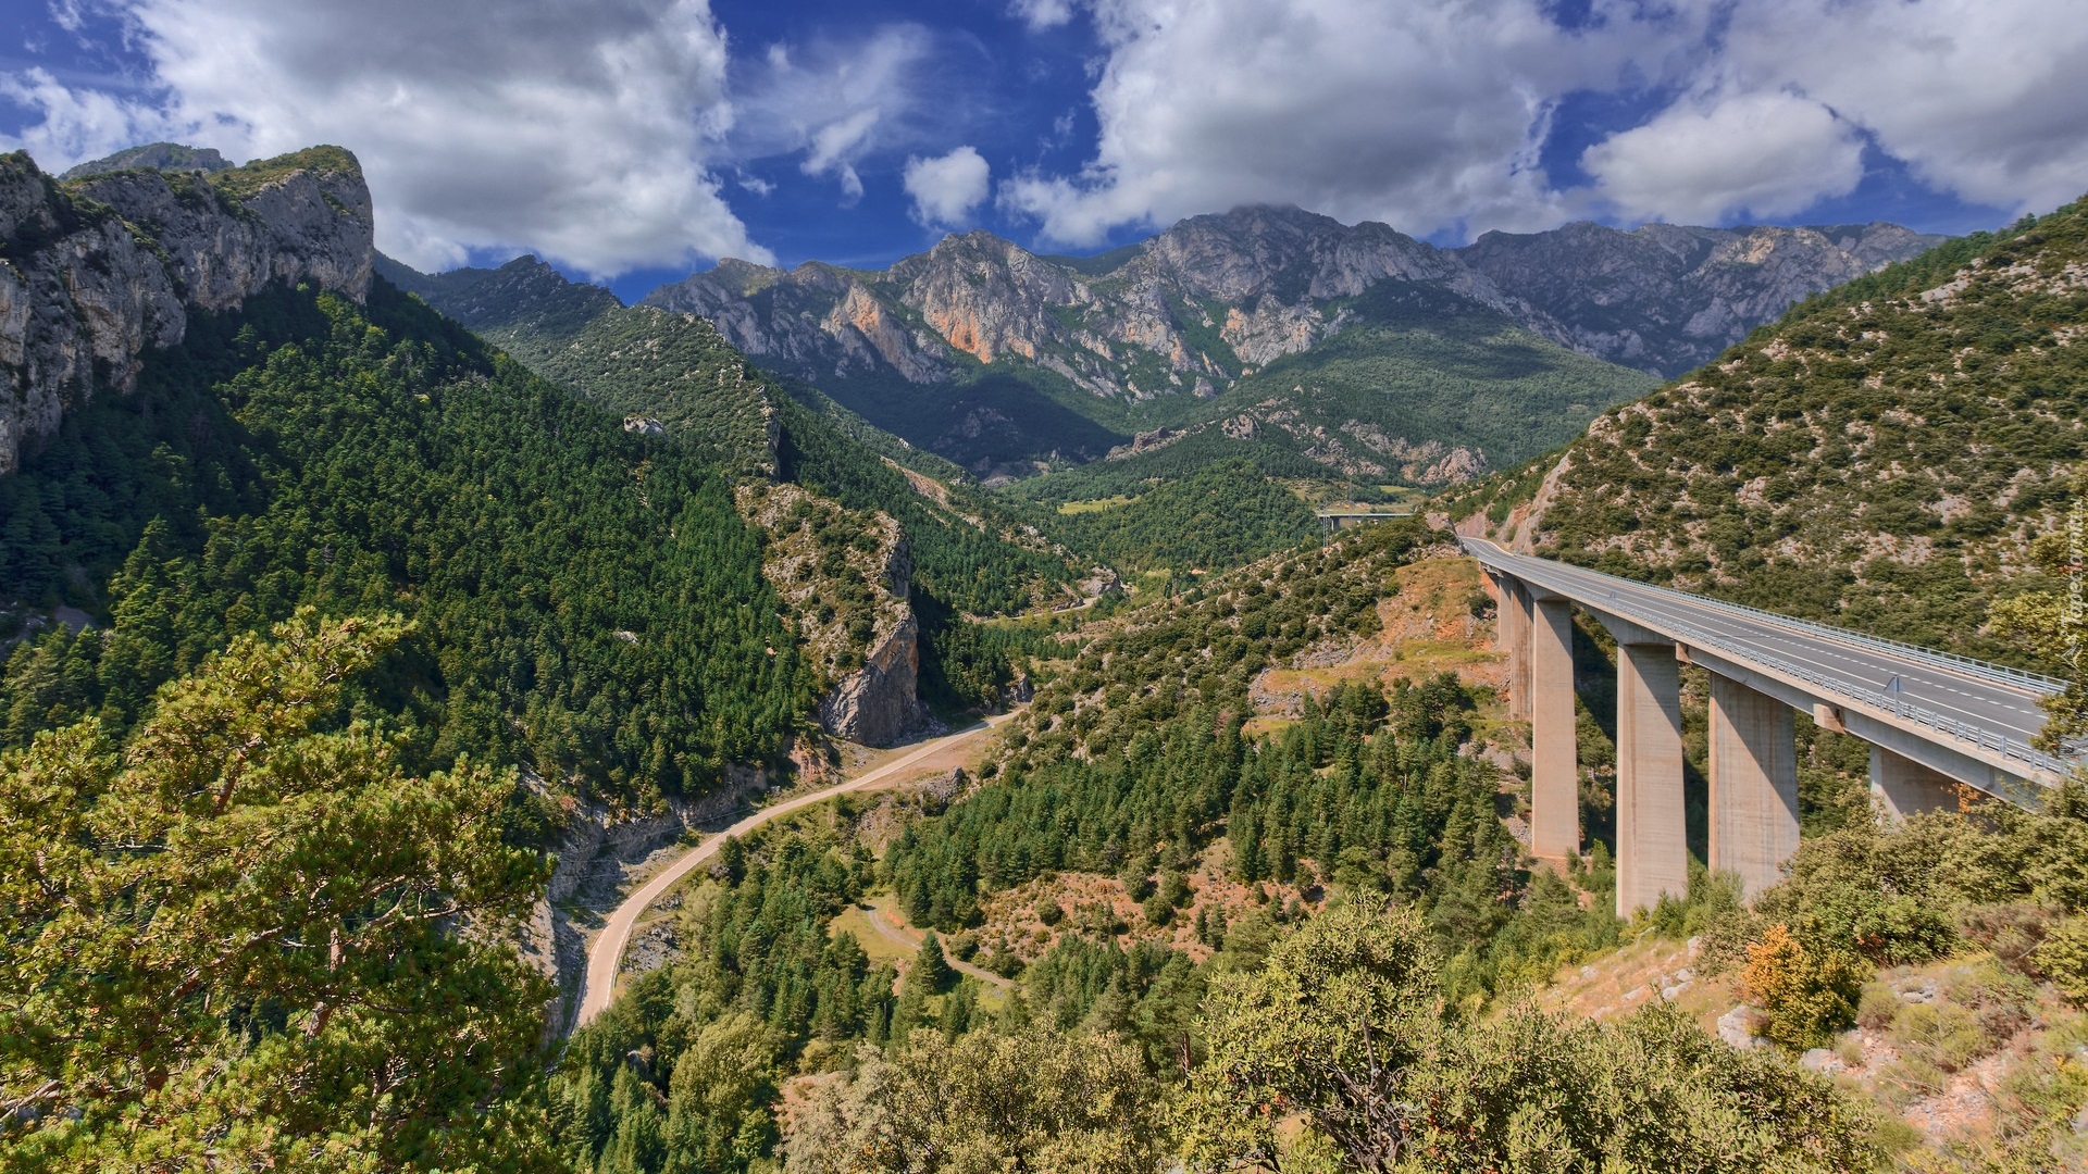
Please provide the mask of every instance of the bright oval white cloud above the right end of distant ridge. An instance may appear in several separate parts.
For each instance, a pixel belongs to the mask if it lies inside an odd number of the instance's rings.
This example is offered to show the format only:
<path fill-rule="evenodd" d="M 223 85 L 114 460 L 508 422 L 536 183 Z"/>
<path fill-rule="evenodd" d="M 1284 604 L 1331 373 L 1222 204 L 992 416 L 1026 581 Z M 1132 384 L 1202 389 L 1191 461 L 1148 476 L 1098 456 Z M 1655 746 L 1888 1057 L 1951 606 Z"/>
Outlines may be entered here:
<path fill-rule="evenodd" d="M 1779 217 L 1856 190 L 1862 136 L 1798 94 L 1710 96 L 1587 148 L 1581 167 L 1631 219 Z"/>

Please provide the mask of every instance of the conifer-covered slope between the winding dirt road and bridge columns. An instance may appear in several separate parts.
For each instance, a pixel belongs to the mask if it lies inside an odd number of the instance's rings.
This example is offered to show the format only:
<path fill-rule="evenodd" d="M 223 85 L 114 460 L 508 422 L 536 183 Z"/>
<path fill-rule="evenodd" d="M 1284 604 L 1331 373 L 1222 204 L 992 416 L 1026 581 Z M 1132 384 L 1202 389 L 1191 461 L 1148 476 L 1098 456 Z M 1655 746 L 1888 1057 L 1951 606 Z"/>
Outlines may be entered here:
<path fill-rule="evenodd" d="M 1376 593 L 1418 537 L 1357 531 L 1330 556 L 1219 577 L 1209 597 L 1098 639 L 1040 689 L 1017 723 L 1021 750 L 996 777 L 894 842 L 883 875 L 906 917 L 954 932 L 979 921 L 981 894 L 1088 871 L 1121 873 L 1134 900 L 1148 900 L 1146 917 L 1165 923 L 1182 894 L 1150 888 L 1155 865 L 1163 882 L 1180 879 L 1224 836 L 1240 882 L 1318 875 L 1418 902 L 1453 957 L 1457 999 L 1482 1001 L 1612 944 L 1608 913 L 1516 867 L 1493 769 L 1460 752 L 1472 698 L 1455 677 L 1399 681 L 1391 696 L 1343 687 L 1307 702 L 1282 733 L 1242 737 L 1244 679 L 1276 648 L 1297 648 L 1288 616 L 1318 612 L 1324 631 L 1376 618 Z M 1368 583 L 1355 595 L 1343 587 L 1351 574 Z M 1282 587 L 1270 591 L 1263 577 Z M 1082 1015 L 1098 990 L 1088 984 Z"/>

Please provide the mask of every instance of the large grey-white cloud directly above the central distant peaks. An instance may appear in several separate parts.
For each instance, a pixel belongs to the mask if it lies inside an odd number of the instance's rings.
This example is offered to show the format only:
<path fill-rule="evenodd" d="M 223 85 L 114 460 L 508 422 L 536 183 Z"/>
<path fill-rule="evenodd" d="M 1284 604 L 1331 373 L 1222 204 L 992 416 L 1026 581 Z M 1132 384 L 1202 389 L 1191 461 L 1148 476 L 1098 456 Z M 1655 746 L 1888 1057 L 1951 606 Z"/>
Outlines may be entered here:
<path fill-rule="evenodd" d="M 1574 38 L 1535 0 L 1094 0 L 1094 159 L 1002 184 L 1073 244 L 1257 201 L 1424 234 L 1556 224 L 1533 161 L 1549 107 L 1647 40 Z"/>

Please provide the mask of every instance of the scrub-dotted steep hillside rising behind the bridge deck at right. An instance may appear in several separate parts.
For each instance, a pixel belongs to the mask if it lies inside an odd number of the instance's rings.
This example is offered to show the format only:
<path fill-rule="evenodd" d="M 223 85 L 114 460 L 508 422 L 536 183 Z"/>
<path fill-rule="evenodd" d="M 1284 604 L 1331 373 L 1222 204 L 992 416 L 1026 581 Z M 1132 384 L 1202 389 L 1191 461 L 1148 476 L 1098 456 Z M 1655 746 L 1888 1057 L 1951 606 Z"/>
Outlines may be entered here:
<path fill-rule="evenodd" d="M 1604 414 L 1495 514 L 1572 562 L 2023 660 L 1982 625 L 2053 587 L 2027 547 L 2088 457 L 2084 330 L 2075 203 L 1806 301 Z"/>

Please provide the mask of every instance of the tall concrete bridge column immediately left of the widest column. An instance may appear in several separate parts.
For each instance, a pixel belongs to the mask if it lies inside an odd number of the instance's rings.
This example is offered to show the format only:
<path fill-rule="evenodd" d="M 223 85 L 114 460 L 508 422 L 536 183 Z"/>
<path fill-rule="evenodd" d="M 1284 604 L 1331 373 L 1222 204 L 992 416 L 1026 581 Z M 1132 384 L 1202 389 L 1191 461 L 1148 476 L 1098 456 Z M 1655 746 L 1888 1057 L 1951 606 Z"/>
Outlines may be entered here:
<path fill-rule="evenodd" d="M 1616 915 L 1689 894 L 1675 643 L 1616 645 Z"/>

